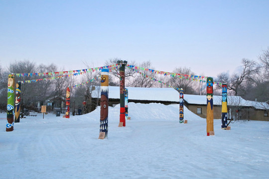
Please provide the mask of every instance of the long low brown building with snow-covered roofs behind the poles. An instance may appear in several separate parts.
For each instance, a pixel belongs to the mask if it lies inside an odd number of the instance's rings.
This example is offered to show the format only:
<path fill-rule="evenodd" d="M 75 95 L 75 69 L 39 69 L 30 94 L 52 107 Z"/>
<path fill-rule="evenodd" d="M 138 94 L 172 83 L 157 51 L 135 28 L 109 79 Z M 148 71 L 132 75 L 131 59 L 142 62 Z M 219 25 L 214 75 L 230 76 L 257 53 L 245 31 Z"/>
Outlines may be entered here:
<path fill-rule="evenodd" d="M 179 92 L 172 88 L 127 87 L 129 102 L 179 104 Z M 92 98 L 99 98 L 100 87 L 96 87 Z M 206 118 L 206 95 L 184 94 L 184 106 L 200 117 Z M 120 103 L 120 87 L 109 87 L 109 105 Z M 222 96 L 213 96 L 214 119 L 221 119 Z M 241 96 L 228 96 L 228 118 L 269 121 L 269 104 L 243 99 Z"/>

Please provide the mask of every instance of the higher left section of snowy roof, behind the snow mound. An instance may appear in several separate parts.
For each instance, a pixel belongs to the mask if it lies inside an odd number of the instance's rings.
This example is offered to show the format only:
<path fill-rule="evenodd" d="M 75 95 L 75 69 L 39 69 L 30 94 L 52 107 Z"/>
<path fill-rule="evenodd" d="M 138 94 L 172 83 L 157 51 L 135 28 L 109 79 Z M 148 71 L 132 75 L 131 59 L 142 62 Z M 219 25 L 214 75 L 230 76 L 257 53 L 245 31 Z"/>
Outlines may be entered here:
<path fill-rule="evenodd" d="M 172 88 L 127 87 L 127 89 L 128 99 L 179 102 L 179 92 Z M 98 97 L 96 92 L 92 97 Z M 109 98 L 120 99 L 120 87 L 109 87 Z"/>

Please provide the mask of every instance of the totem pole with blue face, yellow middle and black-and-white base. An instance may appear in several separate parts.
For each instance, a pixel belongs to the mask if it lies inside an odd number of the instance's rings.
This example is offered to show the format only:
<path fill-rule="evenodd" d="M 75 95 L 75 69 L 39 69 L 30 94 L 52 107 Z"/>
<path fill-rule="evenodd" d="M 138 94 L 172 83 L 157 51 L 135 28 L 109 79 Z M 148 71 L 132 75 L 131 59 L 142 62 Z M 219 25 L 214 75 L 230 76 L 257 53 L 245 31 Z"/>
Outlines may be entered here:
<path fill-rule="evenodd" d="M 227 128 L 227 85 L 226 84 L 222 84 L 222 108 L 221 108 L 221 128 L 222 129 L 226 129 Z"/>

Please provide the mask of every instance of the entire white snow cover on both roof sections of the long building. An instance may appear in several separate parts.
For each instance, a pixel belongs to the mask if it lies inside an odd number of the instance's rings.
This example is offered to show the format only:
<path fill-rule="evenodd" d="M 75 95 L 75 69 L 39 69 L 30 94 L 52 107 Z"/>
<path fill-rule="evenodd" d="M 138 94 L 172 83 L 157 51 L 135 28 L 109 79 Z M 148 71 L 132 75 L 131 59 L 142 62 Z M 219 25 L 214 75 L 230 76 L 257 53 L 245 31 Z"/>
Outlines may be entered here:
<path fill-rule="evenodd" d="M 133 100 L 150 100 L 150 101 L 171 101 L 179 102 L 179 92 L 172 88 L 135 88 L 127 87 L 128 98 Z M 100 87 L 96 87 L 92 92 L 92 97 L 100 97 Z M 206 105 L 206 95 L 184 94 L 184 100 L 189 104 Z M 109 98 L 120 99 L 120 87 L 109 87 Z M 222 105 L 222 96 L 213 96 L 214 105 Z M 266 102 L 256 102 L 243 99 L 241 96 L 229 96 L 228 105 L 230 106 L 253 106 L 256 109 L 269 109 Z"/>

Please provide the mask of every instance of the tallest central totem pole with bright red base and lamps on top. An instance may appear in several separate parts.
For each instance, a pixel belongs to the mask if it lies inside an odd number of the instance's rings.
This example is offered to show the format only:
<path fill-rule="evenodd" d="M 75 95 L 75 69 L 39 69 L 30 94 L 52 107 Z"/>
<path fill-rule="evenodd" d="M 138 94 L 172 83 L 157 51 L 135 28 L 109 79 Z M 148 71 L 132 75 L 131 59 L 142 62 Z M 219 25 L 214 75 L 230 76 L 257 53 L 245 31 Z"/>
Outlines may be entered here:
<path fill-rule="evenodd" d="M 125 66 L 127 65 L 127 61 L 118 61 L 118 64 L 121 64 L 120 67 L 120 122 L 123 122 L 123 126 L 126 126 L 125 120 L 125 96 L 124 96 L 124 89 L 125 89 Z"/>

